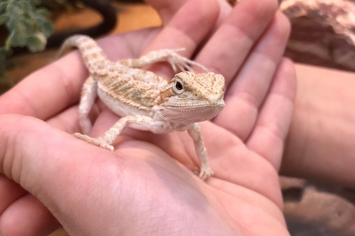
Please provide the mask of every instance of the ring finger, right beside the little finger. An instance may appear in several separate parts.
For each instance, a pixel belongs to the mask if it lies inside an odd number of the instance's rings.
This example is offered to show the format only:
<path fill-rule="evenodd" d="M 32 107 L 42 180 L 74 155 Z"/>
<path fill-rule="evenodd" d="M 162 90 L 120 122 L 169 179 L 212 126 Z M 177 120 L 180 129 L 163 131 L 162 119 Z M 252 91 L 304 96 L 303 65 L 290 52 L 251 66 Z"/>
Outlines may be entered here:
<path fill-rule="evenodd" d="M 249 136 L 255 124 L 258 109 L 282 58 L 289 31 L 289 21 L 282 13 L 277 13 L 225 93 L 226 106 L 214 122 L 242 140 Z"/>

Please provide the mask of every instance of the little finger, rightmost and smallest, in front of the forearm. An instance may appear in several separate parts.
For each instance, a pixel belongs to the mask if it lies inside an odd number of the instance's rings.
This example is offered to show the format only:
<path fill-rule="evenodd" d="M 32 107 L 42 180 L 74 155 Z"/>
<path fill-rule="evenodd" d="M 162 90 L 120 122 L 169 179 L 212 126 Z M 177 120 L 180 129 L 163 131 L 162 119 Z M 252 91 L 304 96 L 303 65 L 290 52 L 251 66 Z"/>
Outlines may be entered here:
<path fill-rule="evenodd" d="M 283 59 L 271 90 L 262 106 L 255 128 L 246 142 L 249 149 L 269 161 L 278 171 L 296 93 L 294 65 Z"/>

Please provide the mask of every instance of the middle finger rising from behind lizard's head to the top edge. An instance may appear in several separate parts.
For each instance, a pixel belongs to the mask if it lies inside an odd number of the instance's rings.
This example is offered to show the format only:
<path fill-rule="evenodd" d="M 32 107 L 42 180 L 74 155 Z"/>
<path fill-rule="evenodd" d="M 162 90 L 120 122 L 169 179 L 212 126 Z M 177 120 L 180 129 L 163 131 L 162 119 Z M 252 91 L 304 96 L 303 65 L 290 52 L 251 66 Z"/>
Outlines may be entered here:
<path fill-rule="evenodd" d="M 196 61 L 222 74 L 228 87 L 276 10 L 276 0 L 241 1 L 203 47 Z"/>

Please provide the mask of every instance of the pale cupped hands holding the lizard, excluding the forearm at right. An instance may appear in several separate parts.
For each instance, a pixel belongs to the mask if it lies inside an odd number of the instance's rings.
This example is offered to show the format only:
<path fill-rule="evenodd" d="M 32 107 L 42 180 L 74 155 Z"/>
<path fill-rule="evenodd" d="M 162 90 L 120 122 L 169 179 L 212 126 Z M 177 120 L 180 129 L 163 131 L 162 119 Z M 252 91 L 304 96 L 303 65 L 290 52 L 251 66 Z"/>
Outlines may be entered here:
<path fill-rule="evenodd" d="M 115 61 L 161 48 L 225 77 L 226 107 L 202 122 L 214 176 L 203 182 L 186 132 L 127 128 L 115 151 L 71 136 L 87 77 L 70 53 L 0 97 L 0 234 L 289 235 L 278 169 L 288 131 L 295 73 L 282 58 L 289 22 L 276 0 L 149 0 L 163 20 L 100 40 Z M 168 65 L 151 70 L 170 79 Z M 119 117 L 98 101 L 91 136 Z M 58 220 L 58 221 L 57 221 Z"/>

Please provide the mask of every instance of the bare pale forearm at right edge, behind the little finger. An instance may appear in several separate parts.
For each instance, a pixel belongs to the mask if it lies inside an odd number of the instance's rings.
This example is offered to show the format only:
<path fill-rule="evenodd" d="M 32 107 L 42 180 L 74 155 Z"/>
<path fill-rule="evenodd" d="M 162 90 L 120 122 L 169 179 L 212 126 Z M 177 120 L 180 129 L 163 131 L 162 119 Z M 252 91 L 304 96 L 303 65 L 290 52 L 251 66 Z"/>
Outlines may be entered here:
<path fill-rule="evenodd" d="M 355 73 L 301 64 L 296 69 L 295 111 L 281 173 L 354 189 Z"/>

